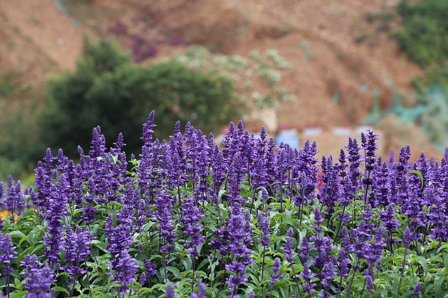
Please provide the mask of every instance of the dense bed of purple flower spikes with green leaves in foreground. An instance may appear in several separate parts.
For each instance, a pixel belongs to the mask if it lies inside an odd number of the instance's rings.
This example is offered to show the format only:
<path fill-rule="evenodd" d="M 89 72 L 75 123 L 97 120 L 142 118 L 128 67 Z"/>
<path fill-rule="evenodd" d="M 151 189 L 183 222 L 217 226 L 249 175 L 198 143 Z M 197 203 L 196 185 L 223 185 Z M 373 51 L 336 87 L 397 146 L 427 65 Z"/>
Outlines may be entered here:
<path fill-rule="evenodd" d="M 154 126 L 140 156 L 97 127 L 79 161 L 48 149 L 34 186 L 0 184 L 0 296 L 448 297 L 448 156 Z"/>

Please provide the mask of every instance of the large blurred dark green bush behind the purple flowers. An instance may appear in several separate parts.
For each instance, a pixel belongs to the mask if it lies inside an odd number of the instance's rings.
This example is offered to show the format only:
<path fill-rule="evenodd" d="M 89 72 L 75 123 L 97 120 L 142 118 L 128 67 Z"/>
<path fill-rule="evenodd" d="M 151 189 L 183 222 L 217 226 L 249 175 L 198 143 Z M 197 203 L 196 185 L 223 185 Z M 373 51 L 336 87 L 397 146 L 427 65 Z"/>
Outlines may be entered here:
<path fill-rule="evenodd" d="M 172 61 L 137 65 L 118 45 L 86 39 L 76 71 L 50 80 L 38 123 L 43 144 L 60 147 L 71 157 L 77 155 L 78 145 L 90 147 L 92 128 L 98 125 L 108 145 L 123 133 L 126 151 L 136 153 L 151 110 L 156 111 L 156 137 L 172 133 L 177 120 L 216 132 L 238 116 L 233 91 L 226 77 L 188 70 Z"/>

